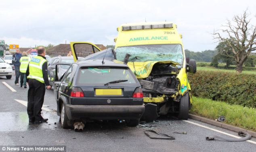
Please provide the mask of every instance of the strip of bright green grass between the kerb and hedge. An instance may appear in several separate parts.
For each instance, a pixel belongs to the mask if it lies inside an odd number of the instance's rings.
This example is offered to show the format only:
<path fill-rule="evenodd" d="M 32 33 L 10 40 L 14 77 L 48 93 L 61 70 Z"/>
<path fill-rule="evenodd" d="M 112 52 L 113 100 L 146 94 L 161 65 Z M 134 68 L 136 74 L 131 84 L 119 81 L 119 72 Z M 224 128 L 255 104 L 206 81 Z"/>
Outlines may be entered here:
<path fill-rule="evenodd" d="M 256 109 L 193 97 L 190 113 L 213 120 L 223 115 L 224 123 L 256 131 Z"/>

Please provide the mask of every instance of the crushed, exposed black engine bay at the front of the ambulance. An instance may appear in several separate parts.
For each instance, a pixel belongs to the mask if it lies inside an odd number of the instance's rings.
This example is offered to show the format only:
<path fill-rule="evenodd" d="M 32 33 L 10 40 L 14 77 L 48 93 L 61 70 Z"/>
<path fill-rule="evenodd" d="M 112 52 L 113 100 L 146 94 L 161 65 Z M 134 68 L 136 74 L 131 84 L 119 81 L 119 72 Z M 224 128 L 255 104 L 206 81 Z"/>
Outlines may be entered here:
<path fill-rule="evenodd" d="M 158 116 L 178 112 L 178 101 L 180 101 L 180 96 L 178 95 L 178 97 L 176 98 L 171 97 L 173 94 L 176 94 L 176 92 L 178 92 L 178 87 L 180 86 L 180 82 L 176 78 L 178 72 L 178 67 L 172 65 L 171 63 L 158 63 L 153 66 L 151 73 L 147 78 L 139 79 L 139 82 L 141 83 L 141 87 L 143 89 L 144 97 L 162 97 L 162 102 L 153 104 L 147 103 L 147 105 L 151 106 L 152 109 L 153 105 L 157 106 L 156 113 Z M 152 114 L 152 109 L 150 110 L 151 112 L 149 112 L 150 114 Z M 145 112 L 144 115 L 147 115 L 147 112 Z M 152 115 L 145 119 L 150 120 L 150 118 L 151 120 L 156 119 L 156 117 L 153 117 Z"/>

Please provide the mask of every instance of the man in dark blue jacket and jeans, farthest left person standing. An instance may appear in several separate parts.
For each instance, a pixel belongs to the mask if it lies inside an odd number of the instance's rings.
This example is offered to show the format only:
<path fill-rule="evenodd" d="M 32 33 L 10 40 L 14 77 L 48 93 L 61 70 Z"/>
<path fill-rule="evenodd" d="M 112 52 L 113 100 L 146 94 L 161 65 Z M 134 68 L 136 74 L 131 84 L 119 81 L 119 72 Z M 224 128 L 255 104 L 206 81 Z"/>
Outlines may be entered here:
<path fill-rule="evenodd" d="M 14 65 L 15 69 L 15 85 L 19 85 L 19 66 L 21 65 L 21 62 L 19 60 L 21 59 L 21 54 L 19 53 L 19 48 L 16 49 L 16 53 L 13 54 L 13 60 L 12 63 Z"/>

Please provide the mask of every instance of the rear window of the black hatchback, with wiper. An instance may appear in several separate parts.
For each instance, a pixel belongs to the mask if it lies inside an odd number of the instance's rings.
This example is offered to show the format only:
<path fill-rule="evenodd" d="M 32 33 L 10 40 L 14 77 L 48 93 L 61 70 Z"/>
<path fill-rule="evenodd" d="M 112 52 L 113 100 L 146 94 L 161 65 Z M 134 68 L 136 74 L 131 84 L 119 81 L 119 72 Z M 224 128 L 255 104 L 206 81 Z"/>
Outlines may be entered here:
<path fill-rule="evenodd" d="M 127 80 L 126 82 L 120 82 L 119 84 L 136 83 L 132 72 L 130 72 L 128 68 L 82 67 L 78 74 L 79 84 L 105 84 L 116 80 Z"/>

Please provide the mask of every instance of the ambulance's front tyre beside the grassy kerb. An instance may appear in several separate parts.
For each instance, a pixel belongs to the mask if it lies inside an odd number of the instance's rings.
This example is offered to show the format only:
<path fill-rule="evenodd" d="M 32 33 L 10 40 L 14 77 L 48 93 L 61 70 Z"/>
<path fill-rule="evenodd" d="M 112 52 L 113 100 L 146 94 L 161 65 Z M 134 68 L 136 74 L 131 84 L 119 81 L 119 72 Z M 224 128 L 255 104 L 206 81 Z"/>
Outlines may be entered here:
<path fill-rule="evenodd" d="M 187 120 L 189 118 L 189 94 L 186 93 L 180 99 L 178 119 Z"/>

